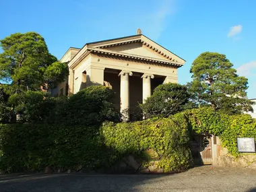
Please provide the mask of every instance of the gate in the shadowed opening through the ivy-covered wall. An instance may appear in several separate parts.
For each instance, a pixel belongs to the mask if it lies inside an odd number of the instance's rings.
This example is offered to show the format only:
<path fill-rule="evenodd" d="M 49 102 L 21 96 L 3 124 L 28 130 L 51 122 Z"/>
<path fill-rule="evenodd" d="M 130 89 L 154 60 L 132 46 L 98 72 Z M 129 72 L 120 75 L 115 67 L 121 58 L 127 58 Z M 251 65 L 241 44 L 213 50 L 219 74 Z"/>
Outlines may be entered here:
<path fill-rule="evenodd" d="M 191 143 L 191 152 L 196 165 L 212 164 L 212 137 L 196 135 Z"/>

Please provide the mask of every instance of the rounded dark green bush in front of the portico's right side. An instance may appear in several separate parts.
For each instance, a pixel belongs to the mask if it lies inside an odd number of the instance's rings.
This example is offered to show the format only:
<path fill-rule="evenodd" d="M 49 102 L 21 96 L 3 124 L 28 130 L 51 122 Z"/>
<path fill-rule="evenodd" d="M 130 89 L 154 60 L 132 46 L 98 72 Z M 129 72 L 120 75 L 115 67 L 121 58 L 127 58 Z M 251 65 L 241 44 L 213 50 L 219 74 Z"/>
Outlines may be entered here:
<path fill-rule="evenodd" d="M 141 108 L 147 118 L 168 117 L 183 110 L 188 101 L 186 86 L 168 83 L 158 86 Z"/>

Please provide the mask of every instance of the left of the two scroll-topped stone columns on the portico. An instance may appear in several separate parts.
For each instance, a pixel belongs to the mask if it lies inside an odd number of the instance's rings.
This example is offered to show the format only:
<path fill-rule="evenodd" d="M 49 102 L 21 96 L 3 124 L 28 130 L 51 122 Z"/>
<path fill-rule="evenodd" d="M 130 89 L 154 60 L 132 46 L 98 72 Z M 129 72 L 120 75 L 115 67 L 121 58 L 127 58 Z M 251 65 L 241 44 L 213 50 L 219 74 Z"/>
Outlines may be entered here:
<path fill-rule="evenodd" d="M 121 77 L 120 112 L 123 121 L 129 121 L 129 75 L 131 76 L 133 73 L 131 71 L 121 71 L 119 73 Z"/>

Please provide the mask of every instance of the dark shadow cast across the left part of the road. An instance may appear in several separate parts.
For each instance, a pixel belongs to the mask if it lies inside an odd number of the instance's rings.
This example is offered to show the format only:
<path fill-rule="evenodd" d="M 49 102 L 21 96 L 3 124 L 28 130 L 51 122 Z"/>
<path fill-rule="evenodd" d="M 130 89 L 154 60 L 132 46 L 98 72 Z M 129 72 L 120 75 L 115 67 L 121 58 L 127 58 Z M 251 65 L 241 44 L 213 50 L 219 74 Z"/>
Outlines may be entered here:
<path fill-rule="evenodd" d="M 166 174 L 27 174 L 0 177 L 0 191 L 137 191 Z"/>

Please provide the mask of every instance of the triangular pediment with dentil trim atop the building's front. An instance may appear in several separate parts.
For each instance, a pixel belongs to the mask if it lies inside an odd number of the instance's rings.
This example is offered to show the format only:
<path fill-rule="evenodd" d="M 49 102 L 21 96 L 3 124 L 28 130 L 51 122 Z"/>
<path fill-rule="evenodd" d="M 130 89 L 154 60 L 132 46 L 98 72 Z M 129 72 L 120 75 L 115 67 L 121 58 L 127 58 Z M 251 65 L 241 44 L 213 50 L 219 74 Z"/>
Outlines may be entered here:
<path fill-rule="evenodd" d="M 113 40 L 104 40 L 101 42 L 92 42 L 88 44 L 88 48 L 89 47 L 155 59 L 162 59 L 166 61 L 175 61 L 181 64 L 185 63 L 184 59 L 174 55 L 174 53 L 164 49 L 164 47 L 143 35 L 128 36 L 125 38 L 117 38 Z"/>

